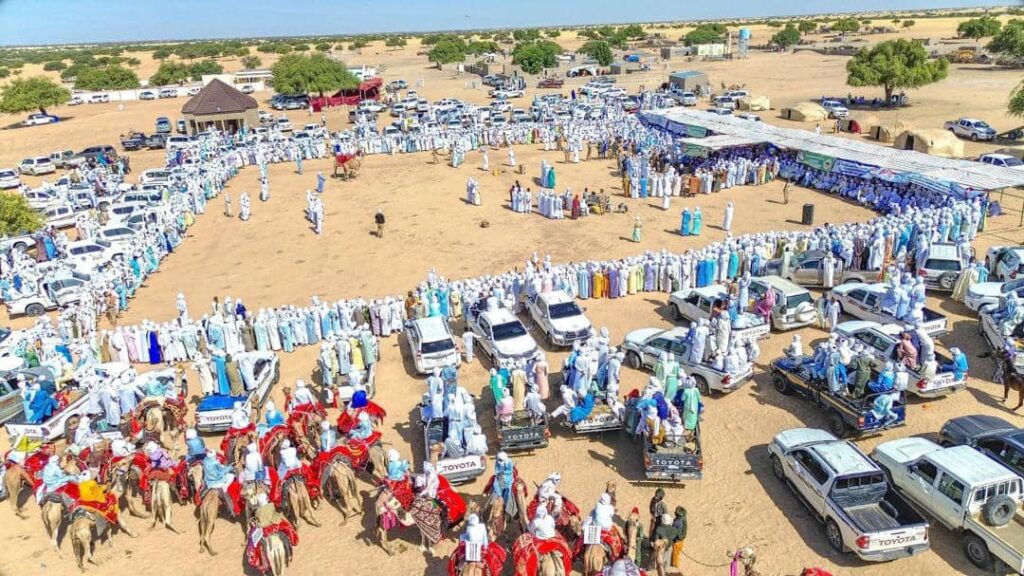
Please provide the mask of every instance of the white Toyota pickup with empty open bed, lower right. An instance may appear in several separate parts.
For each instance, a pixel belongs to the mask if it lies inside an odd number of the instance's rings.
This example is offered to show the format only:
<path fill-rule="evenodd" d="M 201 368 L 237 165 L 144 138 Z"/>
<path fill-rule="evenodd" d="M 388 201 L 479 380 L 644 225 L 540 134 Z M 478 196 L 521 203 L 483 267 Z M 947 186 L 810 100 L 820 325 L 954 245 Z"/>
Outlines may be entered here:
<path fill-rule="evenodd" d="M 793 428 L 768 445 L 772 475 L 797 493 L 840 552 L 887 562 L 929 547 L 928 522 L 853 443 L 815 428 Z"/>

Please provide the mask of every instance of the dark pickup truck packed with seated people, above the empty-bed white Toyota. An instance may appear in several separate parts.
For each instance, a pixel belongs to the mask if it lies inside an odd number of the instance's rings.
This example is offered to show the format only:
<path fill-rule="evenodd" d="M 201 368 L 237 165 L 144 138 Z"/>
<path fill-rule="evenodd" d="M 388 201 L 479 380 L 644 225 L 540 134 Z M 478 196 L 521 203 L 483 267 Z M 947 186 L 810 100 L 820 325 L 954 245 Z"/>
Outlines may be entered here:
<path fill-rule="evenodd" d="M 824 378 L 814 376 L 811 370 L 813 363 L 813 359 L 807 357 L 773 360 L 772 386 L 781 395 L 801 396 L 813 403 L 827 415 L 828 430 L 834 436 L 868 436 L 906 423 L 906 406 L 902 394 L 893 400 L 891 414 L 877 413 L 874 403 L 879 394 L 867 393 L 862 398 L 835 395 Z"/>

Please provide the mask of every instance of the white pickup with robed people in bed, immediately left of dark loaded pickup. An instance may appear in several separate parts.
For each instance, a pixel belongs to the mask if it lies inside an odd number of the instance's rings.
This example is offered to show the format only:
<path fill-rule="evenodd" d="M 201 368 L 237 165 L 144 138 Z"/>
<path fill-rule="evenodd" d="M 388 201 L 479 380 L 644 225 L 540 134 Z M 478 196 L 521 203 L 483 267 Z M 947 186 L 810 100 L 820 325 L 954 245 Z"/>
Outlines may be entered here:
<path fill-rule="evenodd" d="M 734 392 L 754 376 L 754 366 L 746 363 L 734 372 L 718 370 L 709 363 L 690 358 L 691 344 L 686 339 L 686 328 L 640 328 L 626 334 L 622 351 L 626 365 L 634 370 L 653 370 L 663 354 L 672 356 L 687 375 L 693 376 L 700 394 Z"/>

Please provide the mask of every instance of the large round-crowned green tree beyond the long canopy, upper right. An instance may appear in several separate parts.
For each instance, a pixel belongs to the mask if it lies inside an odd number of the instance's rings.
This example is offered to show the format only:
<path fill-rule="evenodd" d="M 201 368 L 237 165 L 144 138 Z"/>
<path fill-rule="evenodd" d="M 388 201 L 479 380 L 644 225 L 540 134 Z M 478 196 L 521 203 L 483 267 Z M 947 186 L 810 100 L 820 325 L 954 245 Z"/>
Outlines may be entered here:
<path fill-rule="evenodd" d="M 861 48 L 846 64 L 846 83 L 851 86 L 882 86 L 886 101 L 897 88 L 920 88 L 945 79 L 949 63 L 930 60 L 925 47 L 908 40 L 890 40 Z"/>

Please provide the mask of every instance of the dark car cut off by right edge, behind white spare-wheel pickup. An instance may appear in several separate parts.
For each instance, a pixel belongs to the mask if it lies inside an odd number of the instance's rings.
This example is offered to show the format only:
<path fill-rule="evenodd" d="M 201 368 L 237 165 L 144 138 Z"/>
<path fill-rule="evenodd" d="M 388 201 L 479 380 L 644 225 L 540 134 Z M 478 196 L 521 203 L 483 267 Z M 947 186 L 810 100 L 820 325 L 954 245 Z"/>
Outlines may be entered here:
<path fill-rule="evenodd" d="M 1024 430 L 987 414 L 958 416 L 939 429 L 942 446 L 970 446 L 1024 478 Z"/>

